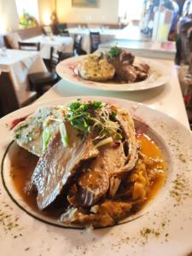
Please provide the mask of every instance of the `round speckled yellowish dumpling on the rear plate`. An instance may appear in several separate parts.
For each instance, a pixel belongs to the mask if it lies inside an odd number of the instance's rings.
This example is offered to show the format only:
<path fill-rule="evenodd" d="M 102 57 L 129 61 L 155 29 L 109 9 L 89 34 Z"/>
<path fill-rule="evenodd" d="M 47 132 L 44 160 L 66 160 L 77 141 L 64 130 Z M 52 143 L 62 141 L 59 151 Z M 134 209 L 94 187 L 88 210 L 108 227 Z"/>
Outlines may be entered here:
<path fill-rule="evenodd" d="M 99 55 L 88 55 L 79 67 L 79 75 L 86 80 L 104 82 L 113 79 L 113 65 Z"/>

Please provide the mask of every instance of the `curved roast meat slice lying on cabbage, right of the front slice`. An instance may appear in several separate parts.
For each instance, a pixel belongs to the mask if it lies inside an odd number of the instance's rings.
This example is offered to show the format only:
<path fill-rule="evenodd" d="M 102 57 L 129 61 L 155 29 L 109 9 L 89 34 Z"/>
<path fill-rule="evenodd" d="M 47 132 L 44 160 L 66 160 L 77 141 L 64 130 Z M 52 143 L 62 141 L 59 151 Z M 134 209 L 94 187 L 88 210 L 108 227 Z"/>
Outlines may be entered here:
<path fill-rule="evenodd" d="M 116 119 L 125 141 L 99 148 L 99 154 L 89 168 L 84 167 L 68 201 L 75 207 L 90 207 L 109 195 L 113 197 L 120 181 L 137 163 L 137 140 L 134 124 L 127 111 L 117 112 Z"/>

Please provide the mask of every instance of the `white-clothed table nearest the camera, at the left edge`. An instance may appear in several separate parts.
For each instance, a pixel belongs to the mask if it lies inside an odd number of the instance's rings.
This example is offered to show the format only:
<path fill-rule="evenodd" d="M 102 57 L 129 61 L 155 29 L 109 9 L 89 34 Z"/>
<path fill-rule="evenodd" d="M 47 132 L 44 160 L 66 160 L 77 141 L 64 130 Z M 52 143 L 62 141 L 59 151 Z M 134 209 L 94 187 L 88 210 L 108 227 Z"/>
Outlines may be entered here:
<path fill-rule="evenodd" d="M 34 91 L 28 90 L 27 75 L 46 71 L 44 61 L 36 51 L 6 49 L 5 53 L 0 52 L 0 73 L 10 73 L 20 103 L 34 94 Z"/>

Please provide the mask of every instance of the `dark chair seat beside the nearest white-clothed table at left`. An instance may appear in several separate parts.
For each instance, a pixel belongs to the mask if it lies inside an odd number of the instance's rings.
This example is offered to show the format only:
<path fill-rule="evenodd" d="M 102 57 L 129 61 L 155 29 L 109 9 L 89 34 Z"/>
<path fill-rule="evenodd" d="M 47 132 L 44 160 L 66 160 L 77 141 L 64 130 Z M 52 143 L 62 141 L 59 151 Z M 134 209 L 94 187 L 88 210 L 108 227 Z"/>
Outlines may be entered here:
<path fill-rule="evenodd" d="M 32 73 L 29 74 L 29 79 L 32 84 L 53 84 L 58 79 L 56 73 Z"/>

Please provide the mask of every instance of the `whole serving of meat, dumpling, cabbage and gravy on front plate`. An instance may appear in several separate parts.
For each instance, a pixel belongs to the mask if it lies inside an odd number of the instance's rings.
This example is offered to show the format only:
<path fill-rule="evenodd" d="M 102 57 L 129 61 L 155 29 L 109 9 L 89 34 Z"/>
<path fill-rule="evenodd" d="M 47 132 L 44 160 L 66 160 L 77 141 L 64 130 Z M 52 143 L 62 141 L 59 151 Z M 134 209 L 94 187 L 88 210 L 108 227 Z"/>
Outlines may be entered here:
<path fill-rule="evenodd" d="M 11 166 L 15 187 L 65 226 L 118 224 L 165 181 L 160 148 L 136 132 L 127 110 L 104 102 L 39 108 L 13 136 L 20 146 Z"/>

